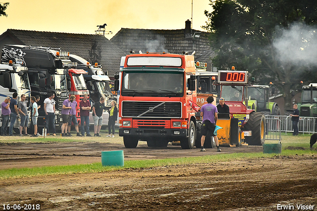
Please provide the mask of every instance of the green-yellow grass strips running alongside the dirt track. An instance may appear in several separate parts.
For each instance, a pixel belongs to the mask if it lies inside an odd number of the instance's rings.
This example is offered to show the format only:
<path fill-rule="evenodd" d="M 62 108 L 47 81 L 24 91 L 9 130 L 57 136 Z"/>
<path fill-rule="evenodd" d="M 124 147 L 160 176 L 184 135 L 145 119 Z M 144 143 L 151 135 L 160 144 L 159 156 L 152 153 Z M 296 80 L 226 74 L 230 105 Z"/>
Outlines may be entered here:
<path fill-rule="evenodd" d="M 25 143 L 31 142 L 107 142 L 110 140 L 111 143 L 120 142 L 123 143 L 122 137 L 108 138 L 105 139 L 107 133 L 101 133 L 103 137 L 94 139 L 86 137 L 54 137 L 54 138 L 28 138 L 22 137 Z M 281 156 L 293 156 L 293 155 L 317 155 L 317 151 L 310 150 L 310 134 L 304 134 L 299 136 L 292 136 L 289 134 L 282 134 L 282 153 Z M 78 140 L 79 138 L 79 140 Z M 1 139 L 3 139 L 1 137 Z M 0 142 L 3 140 L 0 139 Z M 36 140 L 34 140 L 36 139 Z M 99 140 L 100 139 L 100 140 Z M 9 142 L 8 142 L 9 143 Z M 267 140 L 265 144 L 277 143 L 275 140 Z M 305 150 L 289 150 L 288 147 L 301 147 Z M 12 178 L 12 177 L 32 177 L 39 175 L 55 175 L 55 174 L 73 174 L 73 173 L 94 173 L 94 172 L 105 172 L 118 169 L 129 169 L 129 168 L 149 168 L 155 166 L 166 166 L 166 165 L 177 165 L 177 164 L 190 164 L 190 163 L 207 163 L 207 162 L 219 162 L 228 160 L 237 160 L 245 158 L 271 158 L 276 154 L 263 154 L 263 153 L 233 153 L 233 154 L 218 154 L 212 156 L 202 157 L 189 157 L 189 158 L 165 158 L 165 159 L 149 159 L 149 160 L 126 160 L 124 166 L 102 166 L 101 162 L 92 164 L 78 164 L 78 165 L 62 165 L 62 166 L 45 166 L 45 167 L 34 167 L 34 168 L 11 168 L 0 170 L 0 179 Z"/>

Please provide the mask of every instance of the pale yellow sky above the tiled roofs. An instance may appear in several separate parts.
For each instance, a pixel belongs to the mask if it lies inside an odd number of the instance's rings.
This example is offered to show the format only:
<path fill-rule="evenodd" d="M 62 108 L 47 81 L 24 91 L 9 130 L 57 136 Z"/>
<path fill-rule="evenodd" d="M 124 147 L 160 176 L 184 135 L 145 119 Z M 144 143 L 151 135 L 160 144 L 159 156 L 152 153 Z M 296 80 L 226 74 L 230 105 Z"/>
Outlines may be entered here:
<path fill-rule="evenodd" d="M 192 18 L 192 0 L 0 0 L 9 2 L 0 17 L 0 35 L 7 29 L 95 34 L 107 24 L 111 39 L 121 28 L 184 29 Z M 193 0 L 193 29 L 208 21 L 210 0 Z"/>

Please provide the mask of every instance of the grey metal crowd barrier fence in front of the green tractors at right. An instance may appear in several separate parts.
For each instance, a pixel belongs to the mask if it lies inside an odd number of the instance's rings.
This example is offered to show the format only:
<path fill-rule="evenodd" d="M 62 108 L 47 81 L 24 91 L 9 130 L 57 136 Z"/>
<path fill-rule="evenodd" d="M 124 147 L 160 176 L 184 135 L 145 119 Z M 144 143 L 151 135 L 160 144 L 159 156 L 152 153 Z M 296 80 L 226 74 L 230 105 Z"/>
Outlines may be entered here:
<path fill-rule="evenodd" d="M 291 116 L 275 116 L 275 115 L 265 115 L 265 123 L 266 125 L 270 123 L 271 119 L 279 119 L 281 132 L 293 132 L 292 126 L 292 117 Z M 274 130 L 277 128 L 273 127 L 273 122 L 271 122 L 272 128 L 268 127 L 266 131 Z M 276 126 L 278 126 L 276 124 Z M 298 131 L 299 133 L 317 133 L 317 117 L 299 117 L 298 122 Z"/>

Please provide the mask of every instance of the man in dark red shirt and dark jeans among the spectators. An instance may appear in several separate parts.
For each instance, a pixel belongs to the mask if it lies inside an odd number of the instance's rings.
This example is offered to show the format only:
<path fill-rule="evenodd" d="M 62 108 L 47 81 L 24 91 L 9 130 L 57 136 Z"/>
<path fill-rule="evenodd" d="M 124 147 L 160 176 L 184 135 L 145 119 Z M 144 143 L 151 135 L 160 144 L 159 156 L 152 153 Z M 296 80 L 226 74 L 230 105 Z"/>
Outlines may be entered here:
<path fill-rule="evenodd" d="M 88 96 L 85 94 L 84 99 L 79 102 L 80 107 L 80 131 L 81 135 L 85 135 L 84 123 L 86 123 L 86 136 L 91 136 L 89 132 L 89 111 L 91 110 Z"/>

